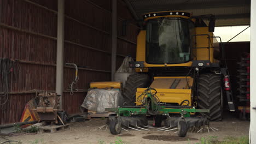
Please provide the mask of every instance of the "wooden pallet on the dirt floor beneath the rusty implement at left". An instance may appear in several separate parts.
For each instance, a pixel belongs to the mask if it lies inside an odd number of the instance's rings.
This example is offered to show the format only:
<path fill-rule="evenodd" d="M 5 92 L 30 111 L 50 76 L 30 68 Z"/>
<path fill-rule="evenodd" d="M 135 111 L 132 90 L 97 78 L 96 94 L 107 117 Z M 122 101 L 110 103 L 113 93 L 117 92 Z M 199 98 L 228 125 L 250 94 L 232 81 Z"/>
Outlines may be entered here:
<path fill-rule="evenodd" d="M 71 124 L 66 124 L 66 125 L 46 125 L 44 127 L 39 128 L 38 133 L 43 134 L 43 133 L 55 133 L 56 131 L 62 131 L 65 129 L 70 129 Z"/>

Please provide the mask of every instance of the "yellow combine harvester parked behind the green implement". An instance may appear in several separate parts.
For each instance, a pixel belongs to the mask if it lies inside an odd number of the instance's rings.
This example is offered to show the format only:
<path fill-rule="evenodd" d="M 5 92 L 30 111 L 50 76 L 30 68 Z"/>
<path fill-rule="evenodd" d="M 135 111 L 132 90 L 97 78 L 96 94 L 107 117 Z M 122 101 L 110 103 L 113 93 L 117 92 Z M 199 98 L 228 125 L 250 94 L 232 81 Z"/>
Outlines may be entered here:
<path fill-rule="evenodd" d="M 208 17 L 209 26 L 202 17 Z M 188 106 L 209 109 L 211 121 L 220 121 L 226 91 L 234 111 L 224 51 L 213 35 L 214 21 L 213 15 L 192 17 L 181 11 L 145 14 L 136 62 L 130 64 L 137 73 L 128 77 L 124 88 L 126 104 L 133 105 L 135 95 L 153 87 L 161 103 L 178 106 L 186 100 Z"/>

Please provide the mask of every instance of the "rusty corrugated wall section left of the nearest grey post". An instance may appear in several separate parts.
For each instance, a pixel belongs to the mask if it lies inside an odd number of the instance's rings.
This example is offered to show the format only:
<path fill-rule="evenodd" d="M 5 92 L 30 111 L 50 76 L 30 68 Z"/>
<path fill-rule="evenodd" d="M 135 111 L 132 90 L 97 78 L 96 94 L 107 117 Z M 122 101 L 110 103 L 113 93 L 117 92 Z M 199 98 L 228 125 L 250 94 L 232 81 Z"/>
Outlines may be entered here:
<path fill-rule="evenodd" d="M 40 2 L 49 8 L 57 4 Z M 20 62 L 9 76 L 9 100 L 0 108 L 4 124 L 19 122 L 33 89 L 55 90 L 57 15 L 20 0 L 0 0 L 0 14 L 0 57 Z"/>

